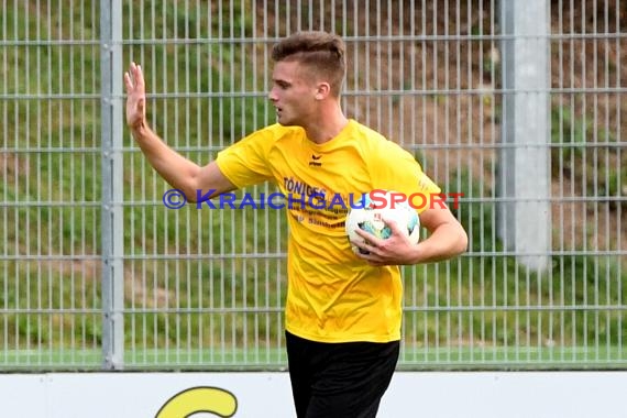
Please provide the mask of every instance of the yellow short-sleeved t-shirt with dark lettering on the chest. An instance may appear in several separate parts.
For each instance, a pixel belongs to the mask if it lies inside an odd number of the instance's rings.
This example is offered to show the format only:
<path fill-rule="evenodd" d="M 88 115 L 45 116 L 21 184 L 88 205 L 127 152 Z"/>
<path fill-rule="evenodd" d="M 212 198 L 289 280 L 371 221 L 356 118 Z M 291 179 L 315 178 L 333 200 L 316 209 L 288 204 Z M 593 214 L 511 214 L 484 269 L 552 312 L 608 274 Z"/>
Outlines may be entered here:
<path fill-rule="evenodd" d="M 439 193 L 411 154 L 350 120 L 321 145 L 301 128 L 274 124 L 220 152 L 217 164 L 240 188 L 273 180 L 284 197 L 275 204 L 289 226 L 287 331 L 321 342 L 400 339 L 399 268 L 359 258 L 344 221 L 351 201 L 374 189 Z"/>

